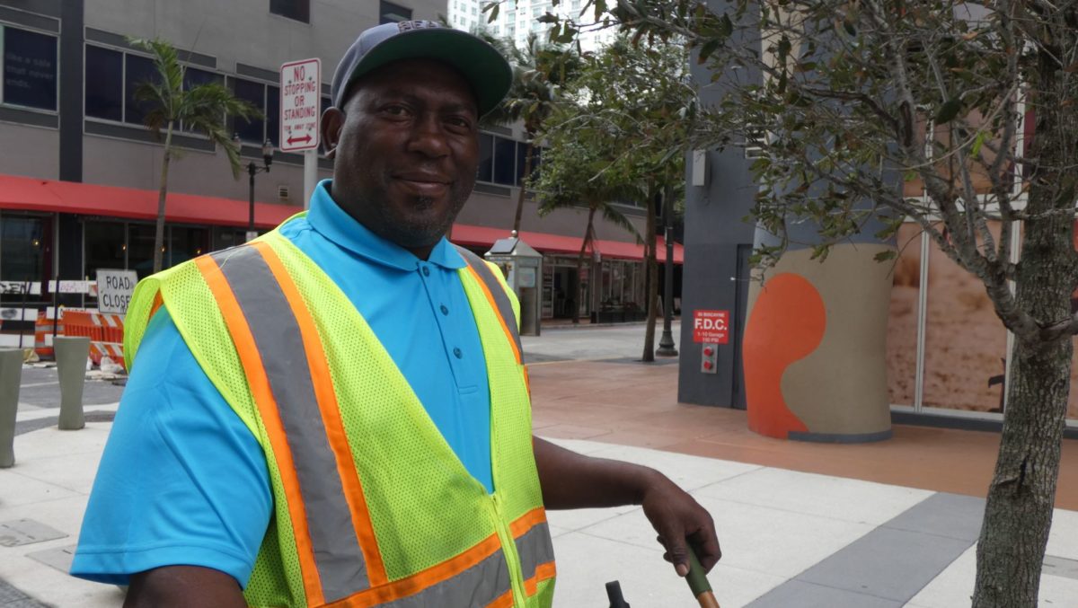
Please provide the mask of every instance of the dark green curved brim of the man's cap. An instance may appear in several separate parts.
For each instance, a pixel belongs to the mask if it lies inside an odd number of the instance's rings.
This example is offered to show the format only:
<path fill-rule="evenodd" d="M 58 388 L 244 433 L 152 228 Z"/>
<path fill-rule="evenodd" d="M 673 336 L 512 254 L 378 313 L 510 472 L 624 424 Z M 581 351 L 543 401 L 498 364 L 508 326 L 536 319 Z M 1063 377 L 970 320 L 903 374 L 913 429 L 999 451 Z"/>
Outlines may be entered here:
<path fill-rule="evenodd" d="M 457 69 L 475 93 L 483 116 L 506 97 L 513 70 L 494 46 L 474 36 L 450 28 L 420 28 L 401 32 L 376 44 L 356 65 L 342 89 L 348 96 L 355 82 L 382 66 L 401 59 L 434 59 Z"/>

